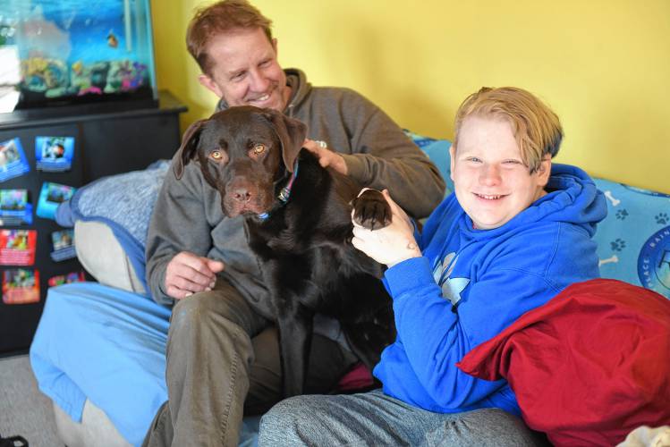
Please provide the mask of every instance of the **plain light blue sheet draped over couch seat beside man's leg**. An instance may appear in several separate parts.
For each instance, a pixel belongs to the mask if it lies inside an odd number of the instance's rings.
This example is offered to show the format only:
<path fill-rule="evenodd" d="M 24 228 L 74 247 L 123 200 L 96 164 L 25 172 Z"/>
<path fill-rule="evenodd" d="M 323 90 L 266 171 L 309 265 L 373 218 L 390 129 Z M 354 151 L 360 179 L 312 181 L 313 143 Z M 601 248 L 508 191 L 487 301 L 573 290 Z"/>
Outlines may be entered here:
<path fill-rule="evenodd" d="M 170 309 L 98 283 L 49 289 L 30 346 L 39 389 L 80 422 L 88 398 L 133 445 L 167 400 L 165 343 Z M 247 417 L 241 444 L 255 445 L 259 418 Z"/>

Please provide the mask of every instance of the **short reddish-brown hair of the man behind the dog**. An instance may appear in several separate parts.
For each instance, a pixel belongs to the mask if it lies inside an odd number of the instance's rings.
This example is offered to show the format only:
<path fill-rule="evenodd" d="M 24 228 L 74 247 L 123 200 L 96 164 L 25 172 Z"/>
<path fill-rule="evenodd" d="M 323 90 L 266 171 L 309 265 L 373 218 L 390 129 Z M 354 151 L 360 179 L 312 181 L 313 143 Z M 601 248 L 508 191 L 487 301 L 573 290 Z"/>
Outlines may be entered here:
<path fill-rule="evenodd" d="M 247 0 L 223 0 L 196 11 L 186 31 L 186 46 L 203 73 L 209 74 L 213 62 L 207 54 L 209 40 L 233 30 L 260 28 L 272 42 L 272 21 Z"/>

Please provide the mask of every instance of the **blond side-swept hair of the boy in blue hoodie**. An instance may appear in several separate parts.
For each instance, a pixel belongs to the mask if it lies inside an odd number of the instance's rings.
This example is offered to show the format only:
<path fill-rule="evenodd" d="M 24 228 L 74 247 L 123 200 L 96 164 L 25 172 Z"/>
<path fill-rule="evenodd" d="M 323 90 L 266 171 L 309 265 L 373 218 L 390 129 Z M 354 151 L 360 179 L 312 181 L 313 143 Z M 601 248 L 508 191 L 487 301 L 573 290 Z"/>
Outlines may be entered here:
<path fill-rule="evenodd" d="M 504 119 L 512 126 L 522 160 L 530 173 L 539 169 L 547 154 L 556 156 L 563 139 L 558 116 L 529 91 L 515 87 L 482 87 L 466 97 L 456 112 L 454 146 L 463 120 L 469 116 Z"/>

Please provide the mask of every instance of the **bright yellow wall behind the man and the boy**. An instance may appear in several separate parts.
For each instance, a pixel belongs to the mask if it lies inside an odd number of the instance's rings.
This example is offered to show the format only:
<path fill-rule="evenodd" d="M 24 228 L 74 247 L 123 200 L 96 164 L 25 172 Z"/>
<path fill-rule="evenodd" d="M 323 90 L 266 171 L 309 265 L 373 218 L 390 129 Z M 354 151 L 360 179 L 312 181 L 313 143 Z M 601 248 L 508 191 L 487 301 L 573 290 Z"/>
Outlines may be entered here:
<path fill-rule="evenodd" d="M 452 139 L 479 87 L 513 85 L 561 117 L 556 161 L 670 193 L 670 0 L 252 0 L 279 60 L 351 87 L 412 131 Z M 152 0 L 158 85 L 207 116 L 184 32 L 199 0 Z"/>

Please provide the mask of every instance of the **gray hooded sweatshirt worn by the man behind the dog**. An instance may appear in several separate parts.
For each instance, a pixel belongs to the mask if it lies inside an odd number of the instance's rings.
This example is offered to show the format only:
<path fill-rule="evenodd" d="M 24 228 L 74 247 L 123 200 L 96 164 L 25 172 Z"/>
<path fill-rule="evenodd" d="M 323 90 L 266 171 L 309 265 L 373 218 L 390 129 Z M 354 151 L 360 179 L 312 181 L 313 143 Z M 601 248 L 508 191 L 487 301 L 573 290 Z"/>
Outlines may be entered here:
<path fill-rule="evenodd" d="M 339 152 L 353 179 L 386 188 L 414 217 L 437 206 L 445 190 L 437 167 L 377 105 L 351 89 L 312 87 L 299 70 L 285 72 L 292 96 L 284 114 L 305 122 L 309 139 L 326 141 Z M 222 100 L 217 109 L 227 107 Z M 242 219 L 223 214 L 218 192 L 203 179 L 197 162 L 185 166 L 181 180 L 168 170 L 148 228 L 147 281 L 153 298 L 174 304 L 163 289 L 165 267 L 181 251 L 223 261 L 219 278 L 246 299 L 267 298 Z"/>

